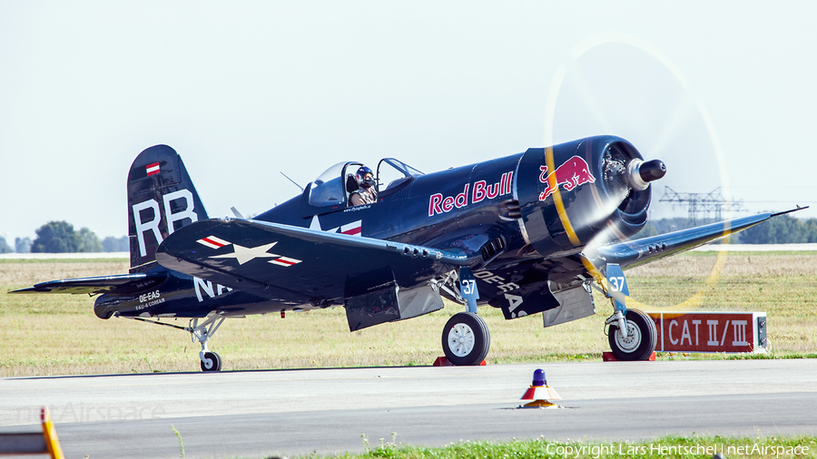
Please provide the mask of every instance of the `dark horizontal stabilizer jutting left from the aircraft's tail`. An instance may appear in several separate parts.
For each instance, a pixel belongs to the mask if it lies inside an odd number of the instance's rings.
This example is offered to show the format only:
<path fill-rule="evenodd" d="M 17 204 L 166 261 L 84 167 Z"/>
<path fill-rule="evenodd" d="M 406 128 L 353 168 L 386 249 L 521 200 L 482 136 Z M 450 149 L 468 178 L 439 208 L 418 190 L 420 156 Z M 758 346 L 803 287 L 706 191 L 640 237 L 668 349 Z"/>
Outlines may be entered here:
<path fill-rule="evenodd" d="M 34 287 L 21 288 L 9 293 L 132 293 L 135 291 L 151 288 L 166 276 L 154 273 L 145 274 L 121 274 L 117 276 L 100 276 L 96 278 L 66 278 L 62 280 L 49 280 L 34 285 Z"/>

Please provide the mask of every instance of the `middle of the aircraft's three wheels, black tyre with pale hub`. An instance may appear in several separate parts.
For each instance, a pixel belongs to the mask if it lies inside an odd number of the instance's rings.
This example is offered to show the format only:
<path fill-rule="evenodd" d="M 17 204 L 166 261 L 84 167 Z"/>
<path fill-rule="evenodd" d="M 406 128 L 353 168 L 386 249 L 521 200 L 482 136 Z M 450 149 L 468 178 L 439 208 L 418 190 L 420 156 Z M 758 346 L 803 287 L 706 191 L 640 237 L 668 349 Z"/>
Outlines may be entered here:
<path fill-rule="evenodd" d="M 458 312 L 448 319 L 442 334 L 443 352 L 454 365 L 479 365 L 491 347 L 491 335 L 482 317 Z"/>

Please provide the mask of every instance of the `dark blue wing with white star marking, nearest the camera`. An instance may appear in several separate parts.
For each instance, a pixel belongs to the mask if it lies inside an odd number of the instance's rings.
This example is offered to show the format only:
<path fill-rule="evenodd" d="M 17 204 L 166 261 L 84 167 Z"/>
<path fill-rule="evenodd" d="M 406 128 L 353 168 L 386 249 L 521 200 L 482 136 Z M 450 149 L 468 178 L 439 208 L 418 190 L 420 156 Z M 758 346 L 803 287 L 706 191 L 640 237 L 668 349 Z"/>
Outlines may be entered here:
<path fill-rule="evenodd" d="M 165 239 L 157 261 L 264 298 L 350 298 L 396 283 L 413 288 L 473 261 L 463 252 L 258 220 L 202 220 Z"/>

